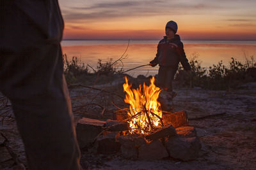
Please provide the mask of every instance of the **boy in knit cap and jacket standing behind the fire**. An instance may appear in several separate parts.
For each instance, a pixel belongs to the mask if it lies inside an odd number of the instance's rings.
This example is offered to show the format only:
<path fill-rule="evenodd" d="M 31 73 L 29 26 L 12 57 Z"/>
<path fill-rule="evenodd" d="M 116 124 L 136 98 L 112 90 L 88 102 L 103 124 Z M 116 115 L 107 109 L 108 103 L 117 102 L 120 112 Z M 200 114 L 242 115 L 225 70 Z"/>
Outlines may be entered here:
<path fill-rule="evenodd" d="M 178 69 L 179 62 L 188 72 L 191 71 L 190 64 L 184 52 L 183 43 L 180 36 L 176 34 L 178 25 L 174 21 L 169 21 L 165 27 L 163 39 L 159 41 L 157 53 L 154 60 L 150 61 L 150 66 L 154 67 L 159 64 L 158 83 L 163 90 L 170 92 L 170 97 L 176 96 L 172 89 L 172 81 Z"/>

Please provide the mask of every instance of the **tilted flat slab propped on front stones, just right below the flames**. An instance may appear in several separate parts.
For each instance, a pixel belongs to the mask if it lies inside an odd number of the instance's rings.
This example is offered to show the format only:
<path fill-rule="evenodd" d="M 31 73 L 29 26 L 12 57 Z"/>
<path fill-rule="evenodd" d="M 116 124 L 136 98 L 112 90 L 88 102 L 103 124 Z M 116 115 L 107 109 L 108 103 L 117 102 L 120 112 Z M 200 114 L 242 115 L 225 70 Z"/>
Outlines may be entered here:
<path fill-rule="evenodd" d="M 152 134 L 148 134 L 147 136 L 145 136 L 145 138 L 154 141 L 167 136 L 176 136 L 176 131 L 172 127 L 172 125 L 166 125 L 164 127 L 161 127 L 156 132 L 153 132 Z"/>

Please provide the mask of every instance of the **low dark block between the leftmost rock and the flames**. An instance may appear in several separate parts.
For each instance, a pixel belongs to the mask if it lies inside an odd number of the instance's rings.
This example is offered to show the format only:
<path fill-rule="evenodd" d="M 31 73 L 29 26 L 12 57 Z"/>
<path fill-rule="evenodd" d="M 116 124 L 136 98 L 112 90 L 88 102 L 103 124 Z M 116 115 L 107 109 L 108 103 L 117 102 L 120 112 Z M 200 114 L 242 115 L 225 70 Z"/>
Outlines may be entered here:
<path fill-rule="evenodd" d="M 118 120 L 110 120 L 108 119 L 106 124 L 104 124 L 103 129 L 108 131 L 116 132 L 116 131 L 128 131 L 129 124 L 128 122 L 118 121 Z"/>

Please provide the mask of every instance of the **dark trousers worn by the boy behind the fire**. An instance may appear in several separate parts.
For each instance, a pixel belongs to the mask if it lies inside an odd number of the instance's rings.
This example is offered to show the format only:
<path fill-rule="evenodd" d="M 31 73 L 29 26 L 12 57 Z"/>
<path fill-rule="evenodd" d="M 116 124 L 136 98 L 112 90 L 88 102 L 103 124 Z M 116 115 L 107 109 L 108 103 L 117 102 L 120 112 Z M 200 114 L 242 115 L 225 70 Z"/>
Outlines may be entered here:
<path fill-rule="evenodd" d="M 174 79 L 176 67 L 160 66 L 158 70 L 158 85 L 168 92 L 172 92 L 172 81 Z"/>

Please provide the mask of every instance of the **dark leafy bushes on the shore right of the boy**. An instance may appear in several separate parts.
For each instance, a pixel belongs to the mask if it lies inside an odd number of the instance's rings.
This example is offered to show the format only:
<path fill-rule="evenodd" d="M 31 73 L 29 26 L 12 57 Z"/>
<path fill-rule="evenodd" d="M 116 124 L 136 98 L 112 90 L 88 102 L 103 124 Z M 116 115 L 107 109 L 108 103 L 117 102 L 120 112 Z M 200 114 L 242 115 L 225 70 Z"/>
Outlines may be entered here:
<path fill-rule="evenodd" d="M 189 60 L 191 73 L 185 73 L 179 67 L 175 80 L 183 86 L 202 87 L 211 90 L 229 90 L 240 87 L 243 83 L 256 81 L 256 61 L 253 56 L 246 58 L 242 63 L 233 57 L 228 66 L 221 60 L 218 64 L 212 64 L 208 69 L 201 66 L 198 53 L 194 53 Z"/>

